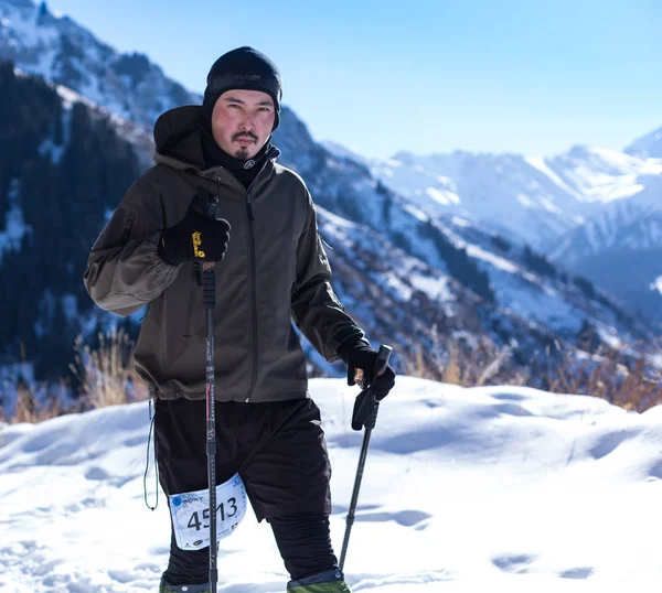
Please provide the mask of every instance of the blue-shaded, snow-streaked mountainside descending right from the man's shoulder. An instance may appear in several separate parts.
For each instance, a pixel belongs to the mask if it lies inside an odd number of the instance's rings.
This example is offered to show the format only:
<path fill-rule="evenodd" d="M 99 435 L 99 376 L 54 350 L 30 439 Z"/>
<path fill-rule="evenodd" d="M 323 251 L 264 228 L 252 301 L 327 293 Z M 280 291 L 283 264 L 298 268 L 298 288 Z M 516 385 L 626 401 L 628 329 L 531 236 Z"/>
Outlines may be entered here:
<path fill-rule="evenodd" d="M 320 228 L 340 272 L 339 292 L 380 335 L 388 335 L 382 328 L 397 327 L 401 343 L 431 346 L 426 328 L 436 326 L 449 335 L 489 335 L 531 354 L 543 352 L 552 336 L 574 342 L 585 322 L 617 347 L 617 325 L 632 324 L 626 330 L 629 336 L 641 330 L 585 280 L 476 222 L 430 216 L 416 201 L 375 180 L 351 152 L 339 155 L 317 144 L 292 111 L 282 121 L 276 141 L 284 161 L 308 180 L 324 208 Z M 365 285 L 366 280 L 372 284 Z M 398 322 L 404 315 L 407 322 Z M 423 333 L 415 337 L 410 332 L 418 330 Z"/>

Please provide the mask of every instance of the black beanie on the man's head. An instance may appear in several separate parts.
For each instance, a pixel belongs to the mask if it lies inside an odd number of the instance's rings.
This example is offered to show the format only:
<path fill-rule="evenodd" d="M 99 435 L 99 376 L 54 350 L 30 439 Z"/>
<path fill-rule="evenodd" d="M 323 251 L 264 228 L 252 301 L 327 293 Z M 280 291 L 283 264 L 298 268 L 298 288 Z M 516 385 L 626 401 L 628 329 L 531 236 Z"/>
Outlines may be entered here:
<path fill-rule="evenodd" d="M 237 47 L 223 54 L 214 62 L 207 74 L 207 86 L 202 101 L 204 116 L 211 119 L 218 97 L 233 88 L 261 90 L 270 95 L 276 108 L 271 131 L 278 128 L 282 82 L 274 62 L 261 52 L 248 46 Z"/>

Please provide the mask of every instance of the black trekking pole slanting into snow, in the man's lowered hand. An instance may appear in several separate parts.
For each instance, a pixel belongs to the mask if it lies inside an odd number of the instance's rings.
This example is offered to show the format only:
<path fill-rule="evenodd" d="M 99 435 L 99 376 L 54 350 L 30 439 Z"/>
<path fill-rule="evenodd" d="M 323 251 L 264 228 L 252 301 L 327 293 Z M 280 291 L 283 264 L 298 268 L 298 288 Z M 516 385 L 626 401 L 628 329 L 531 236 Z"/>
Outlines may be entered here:
<path fill-rule="evenodd" d="M 388 358 L 393 348 L 382 344 L 380 352 L 377 353 L 377 360 L 375 363 L 375 373 L 373 375 L 374 380 L 386 370 L 388 365 Z M 362 386 L 364 387 L 364 386 Z M 359 455 L 359 467 L 356 470 L 356 477 L 354 478 L 354 489 L 352 492 L 352 502 L 350 503 L 350 509 L 348 511 L 345 535 L 342 541 L 342 552 L 340 553 L 340 570 L 344 567 L 345 556 L 348 553 L 348 546 L 350 543 L 350 533 L 352 531 L 352 525 L 354 525 L 354 517 L 356 515 L 356 504 L 359 503 L 359 490 L 361 489 L 361 481 L 363 479 L 363 470 L 365 467 L 365 457 L 367 456 L 367 446 L 370 445 L 370 436 L 372 430 L 375 428 L 377 422 L 377 412 L 380 411 L 380 402 L 376 400 L 375 395 L 372 390 L 372 385 L 366 386 L 361 393 L 356 397 L 354 405 L 354 413 L 352 420 L 352 428 L 354 430 L 361 430 L 361 424 L 365 427 L 363 433 L 363 445 L 361 446 L 361 453 Z"/>

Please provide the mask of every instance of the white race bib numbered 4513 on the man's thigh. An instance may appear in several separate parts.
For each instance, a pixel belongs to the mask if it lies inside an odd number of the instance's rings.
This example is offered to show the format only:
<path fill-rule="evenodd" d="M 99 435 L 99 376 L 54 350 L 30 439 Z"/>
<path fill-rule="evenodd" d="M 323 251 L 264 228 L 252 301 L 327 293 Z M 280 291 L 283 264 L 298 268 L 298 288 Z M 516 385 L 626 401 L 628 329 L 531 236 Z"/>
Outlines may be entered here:
<path fill-rule="evenodd" d="M 170 514 L 174 539 L 182 550 L 197 550 L 210 545 L 210 490 L 173 494 Z M 221 540 L 232 535 L 246 515 L 246 487 L 235 474 L 216 486 L 216 536 Z"/>

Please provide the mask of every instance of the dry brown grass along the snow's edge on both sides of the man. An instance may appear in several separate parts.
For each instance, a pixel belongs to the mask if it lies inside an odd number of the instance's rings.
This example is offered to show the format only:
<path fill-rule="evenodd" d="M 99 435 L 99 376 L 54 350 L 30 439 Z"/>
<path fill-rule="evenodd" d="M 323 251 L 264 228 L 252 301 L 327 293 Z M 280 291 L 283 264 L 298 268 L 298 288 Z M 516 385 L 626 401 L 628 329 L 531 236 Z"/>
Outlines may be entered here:
<path fill-rule="evenodd" d="M 589 395 L 638 412 L 662 403 L 661 370 L 641 356 L 627 358 L 605 347 L 594 354 L 566 347 L 554 364 L 547 354 L 535 369 L 522 368 L 512 363 L 509 347 L 498 347 L 488 339 L 468 342 L 433 335 L 431 348 L 418 347 L 408 358 L 398 353 L 404 374 L 463 387 L 516 385 Z M 15 386 L 15 413 L 9 422 L 40 422 L 63 413 L 147 399 L 147 389 L 134 368 L 134 345 L 124 331 L 99 335 L 96 348 L 78 336 L 74 351 L 75 364 L 70 367 L 81 384 L 79 403 L 63 409 L 56 397 L 38 402 L 35 393 L 20 384 Z"/>

